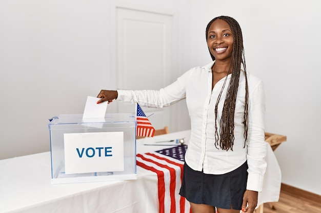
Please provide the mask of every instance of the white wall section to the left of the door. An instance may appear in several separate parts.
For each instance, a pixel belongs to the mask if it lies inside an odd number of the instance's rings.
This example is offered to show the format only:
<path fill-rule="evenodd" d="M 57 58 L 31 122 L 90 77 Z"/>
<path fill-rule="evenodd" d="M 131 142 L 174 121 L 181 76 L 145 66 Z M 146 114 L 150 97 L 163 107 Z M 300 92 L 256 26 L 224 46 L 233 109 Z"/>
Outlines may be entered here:
<path fill-rule="evenodd" d="M 1 158 L 49 150 L 48 119 L 108 85 L 104 1 L 0 1 Z"/>

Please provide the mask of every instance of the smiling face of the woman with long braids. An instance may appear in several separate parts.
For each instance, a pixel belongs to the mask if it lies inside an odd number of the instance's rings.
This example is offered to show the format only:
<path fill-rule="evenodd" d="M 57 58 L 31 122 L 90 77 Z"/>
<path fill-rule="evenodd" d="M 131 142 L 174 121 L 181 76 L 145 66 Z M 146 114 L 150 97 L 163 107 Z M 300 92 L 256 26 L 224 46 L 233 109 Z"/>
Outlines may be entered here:
<path fill-rule="evenodd" d="M 216 61 L 230 61 L 233 52 L 233 35 L 229 24 L 216 19 L 207 33 L 207 45 Z"/>

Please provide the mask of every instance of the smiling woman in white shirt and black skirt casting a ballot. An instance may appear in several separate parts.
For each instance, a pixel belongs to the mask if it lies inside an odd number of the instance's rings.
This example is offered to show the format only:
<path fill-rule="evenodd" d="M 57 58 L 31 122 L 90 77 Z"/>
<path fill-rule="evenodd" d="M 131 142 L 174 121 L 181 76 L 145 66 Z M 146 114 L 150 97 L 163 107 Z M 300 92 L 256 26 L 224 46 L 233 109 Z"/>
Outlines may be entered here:
<path fill-rule="evenodd" d="M 102 90 L 104 101 L 164 107 L 186 98 L 191 138 L 180 195 L 193 213 L 253 212 L 266 169 L 262 81 L 246 72 L 242 31 L 228 16 L 212 19 L 206 40 L 213 61 L 156 90 Z"/>

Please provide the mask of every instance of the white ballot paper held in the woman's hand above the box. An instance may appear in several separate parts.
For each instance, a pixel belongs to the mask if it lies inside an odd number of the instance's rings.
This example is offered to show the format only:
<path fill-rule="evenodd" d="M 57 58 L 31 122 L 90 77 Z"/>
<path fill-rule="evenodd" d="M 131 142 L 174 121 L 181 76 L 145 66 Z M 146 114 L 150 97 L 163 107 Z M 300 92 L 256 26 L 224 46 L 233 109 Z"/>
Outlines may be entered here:
<path fill-rule="evenodd" d="M 83 119 L 103 119 L 106 114 L 108 101 L 97 104 L 99 98 L 87 97 Z"/>

